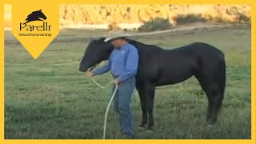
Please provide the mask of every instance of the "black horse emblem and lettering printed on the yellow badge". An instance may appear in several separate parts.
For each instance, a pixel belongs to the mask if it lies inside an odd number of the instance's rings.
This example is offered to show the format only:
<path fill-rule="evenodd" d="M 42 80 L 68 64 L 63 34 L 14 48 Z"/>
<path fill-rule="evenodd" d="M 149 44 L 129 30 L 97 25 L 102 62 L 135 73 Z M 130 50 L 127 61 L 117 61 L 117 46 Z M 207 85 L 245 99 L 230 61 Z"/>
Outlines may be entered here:
<path fill-rule="evenodd" d="M 42 13 L 42 10 L 33 11 L 31 14 L 29 14 L 26 18 L 26 22 L 20 22 L 19 24 L 19 30 L 21 32 L 35 32 L 35 31 L 49 31 L 51 25 L 46 22 L 46 15 Z M 34 21 L 39 21 L 34 22 Z M 19 33 L 19 36 L 51 36 L 50 33 L 46 34 L 38 34 L 38 33 Z"/>

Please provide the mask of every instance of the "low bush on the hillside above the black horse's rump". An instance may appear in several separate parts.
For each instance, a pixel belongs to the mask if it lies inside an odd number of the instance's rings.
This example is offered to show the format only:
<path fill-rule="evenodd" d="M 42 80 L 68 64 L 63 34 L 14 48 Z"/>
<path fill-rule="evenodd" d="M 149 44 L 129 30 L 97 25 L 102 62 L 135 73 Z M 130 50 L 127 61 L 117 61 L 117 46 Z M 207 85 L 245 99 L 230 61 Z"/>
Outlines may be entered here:
<path fill-rule="evenodd" d="M 178 25 L 182 25 L 193 22 L 206 22 L 206 18 L 203 18 L 201 14 L 179 14 L 174 17 L 174 21 Z"/>

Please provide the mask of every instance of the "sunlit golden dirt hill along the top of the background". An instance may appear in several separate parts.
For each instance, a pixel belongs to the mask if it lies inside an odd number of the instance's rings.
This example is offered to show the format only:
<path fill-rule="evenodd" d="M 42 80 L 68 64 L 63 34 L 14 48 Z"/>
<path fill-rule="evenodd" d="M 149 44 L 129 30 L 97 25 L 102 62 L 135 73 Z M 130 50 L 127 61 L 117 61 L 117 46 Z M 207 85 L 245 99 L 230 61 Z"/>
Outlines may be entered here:
<path fill-rule="evenodd" d="M 250 5 L 61 5 L 60 25 L 140 23 L 154 18 L 177 18 L 186 14 L 214 22 L 250 22 Z M 6 9 L 6 15 L 10 15 Z M 8 16 L 9 18 L 9 16 Z M 6 27 L 10 20 L 6 18 Z M 136 25 L 137 26 L 137 25 Z"/>

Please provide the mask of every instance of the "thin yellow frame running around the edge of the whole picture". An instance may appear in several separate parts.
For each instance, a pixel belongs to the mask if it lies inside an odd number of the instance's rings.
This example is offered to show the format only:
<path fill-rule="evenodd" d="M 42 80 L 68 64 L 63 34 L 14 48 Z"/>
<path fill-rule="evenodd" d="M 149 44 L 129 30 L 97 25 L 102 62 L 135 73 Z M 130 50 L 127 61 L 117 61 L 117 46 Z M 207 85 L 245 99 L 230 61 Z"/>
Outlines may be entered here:
<path fill-rule="evenodd" d="M 25 1 L 25 0 L 24 0 Z M 29 2 L 29 0 L 26 0 Z M 79 0 L 56 0 L 59 4 L 164 4 L 164 3 L 172 3 L 172 4 L 251 4 L 252 7 L 252 24 L 251 24 L 251 118 L 252 118 L 252 123 L 251 123 L 251 139 L 250 140 L 131 140 L 131 141 L 136 141 L 138 143 L 141 142 L 146 142 L 148 144 L 150 143 L 155 143 L 155 142 L 162 142 L 162 143 L 213 143 L 216 144 L 217 142 L 220 143 L 227 143 L 227 142 L 232 142 L 232 144 L 237 144 L 237 143 L 248 143 L 252 144 L 255 143 L 255 104 L 256 104 L 256 98 L 255 98 L 255 81 L 256 81 L 256 76 L 255 76 L 255 51 L 256 51 L 256 1 L 255 0 L 233 0 L 233 1 L 227 1 L 227 0 L 212 0 L 209 2 L 206 2 L 206 0 L 158 0 L 158 1 L 145 1 L 145 0 L 91 0 L 90 2 L 86 1 L 79 1 Z M 26 142 L 26 143 L 45 143 L 45 142 L 62 142 L 62 143 L 70 143 L 70 142 L 77 142 L 77 143 L 83 143 L 84 142 L 104 142 L 102 140 L 4 140 L 4 17 L 3 17 L 3 9 L 4 9 L 4 4 L 11 4 L 14 1 L 11 0 L 0 0 L 0 143 L 13 143 L 13 142 Z M 45 2 L 50 2 L 50 0 L 45 0 Z M 26 2 L 24 2 L 24 6 L 26 5 Z M 119 142 L 130 142 L 128 140 L 106 140 L 106 142 L 110 143 L 119 143 Z"/>

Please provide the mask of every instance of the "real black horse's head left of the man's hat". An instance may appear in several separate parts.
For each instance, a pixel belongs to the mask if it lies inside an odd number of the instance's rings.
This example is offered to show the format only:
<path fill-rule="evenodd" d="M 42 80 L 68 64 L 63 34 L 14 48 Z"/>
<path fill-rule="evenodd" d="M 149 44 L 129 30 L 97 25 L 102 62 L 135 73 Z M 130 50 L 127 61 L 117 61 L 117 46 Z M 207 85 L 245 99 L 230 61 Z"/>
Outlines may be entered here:
<path fill-rule="evenodd" d="M 107 60 L 114 46 L 110 42 L 104 42 L 105 38 L 91 40 L 85 50 L 85 54 L 80 61 L 79 70 L 85 72 L 99 62 Z"/>

